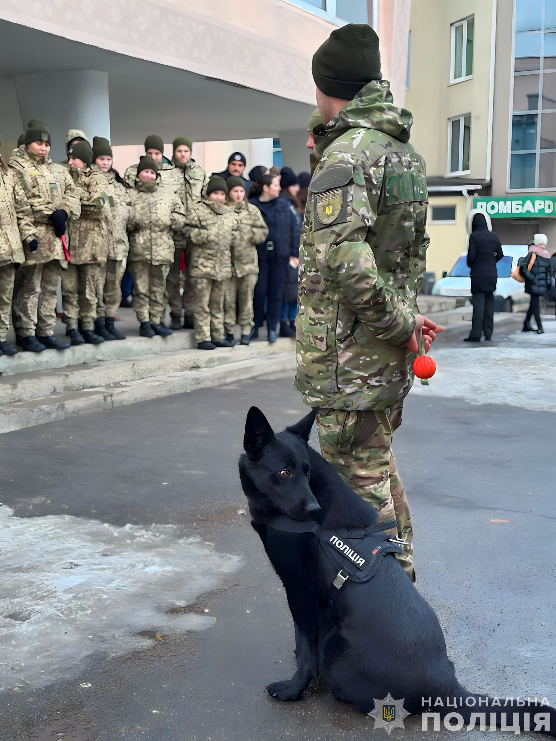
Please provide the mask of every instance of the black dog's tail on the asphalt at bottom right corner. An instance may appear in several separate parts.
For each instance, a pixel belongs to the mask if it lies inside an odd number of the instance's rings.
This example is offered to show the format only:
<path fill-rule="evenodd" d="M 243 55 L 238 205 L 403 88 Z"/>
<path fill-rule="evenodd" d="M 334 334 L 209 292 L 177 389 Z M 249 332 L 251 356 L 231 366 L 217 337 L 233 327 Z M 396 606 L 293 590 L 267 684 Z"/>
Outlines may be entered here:
<path fill-rule="evenodd" d="M 541 731 L 549 736 L 556 736 L 556 710 L 548 705 L 548 700 L 543 697 L 538 700 L 537 697 L 526 700 L 519 697 L 488 697 L 487 695 L 477 695 L 469 692 L 464 687 L 457 689 L 452 697 L 439 698 L 437 707 L 434 707 L 434 701 L 430 707 L 423 708 L 425 713 L 438 713 L 435 719 L 431 717 L 431 722 L 439 725 L 443 720 L 446 728 L 451 726 L 452 731 L 463 728 L 463 725 L 471 728 L 479 728 L 485 731 L 486 728 L 500 728 L 502 731 Z M 423 718 L 423 727 L 425 722 Z M 436 730 L 436 729 L 435 729 Z"/>

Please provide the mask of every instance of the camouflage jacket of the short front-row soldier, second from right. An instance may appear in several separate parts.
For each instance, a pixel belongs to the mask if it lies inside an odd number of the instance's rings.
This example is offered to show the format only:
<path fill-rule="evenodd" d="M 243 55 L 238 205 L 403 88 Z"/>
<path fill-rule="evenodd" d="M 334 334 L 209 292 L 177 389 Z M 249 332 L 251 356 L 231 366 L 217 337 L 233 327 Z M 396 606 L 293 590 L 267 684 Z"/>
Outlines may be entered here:
<path fill-rule="evenodd" d="M 236 229 L 234 213 L 224 203 L 206 199 L 193 205 L 185 227 L 191 242 L 188 268 L 192 278 L 231 278 L 231 247 L 237 239 Z"/>

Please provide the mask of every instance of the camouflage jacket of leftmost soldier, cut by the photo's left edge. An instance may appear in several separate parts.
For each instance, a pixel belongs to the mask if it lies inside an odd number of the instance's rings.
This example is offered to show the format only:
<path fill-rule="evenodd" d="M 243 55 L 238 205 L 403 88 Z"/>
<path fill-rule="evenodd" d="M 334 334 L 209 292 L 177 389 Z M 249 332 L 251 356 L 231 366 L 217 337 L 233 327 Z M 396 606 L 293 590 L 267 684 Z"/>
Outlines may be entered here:
<path fill-rule="evenodd" d="M 16 185 L 13 170 L 4 173 L 0 163 L 0 267 L 11 263 L 25 262 L 25 253 L 19 235 L 16 202 L 18 203 L 19 223 L 22 231 L 33 229 L 33 214 L 21 186 Z"/>

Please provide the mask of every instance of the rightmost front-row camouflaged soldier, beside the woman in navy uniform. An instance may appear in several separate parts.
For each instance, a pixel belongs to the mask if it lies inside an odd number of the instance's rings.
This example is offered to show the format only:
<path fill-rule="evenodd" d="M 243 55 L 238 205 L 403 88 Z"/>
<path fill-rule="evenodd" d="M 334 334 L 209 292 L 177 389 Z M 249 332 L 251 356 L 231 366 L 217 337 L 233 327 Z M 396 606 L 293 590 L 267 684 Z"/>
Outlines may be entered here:
<path fill-rule="evenodd" d="M 237 239 L 232 246 L 231 279 L 226 281 L 224 293 L 224 331 L 234 339 L 236 322 L 241 327 L 241 344 L 248 345 L 253 321 L 253 294 L 259 276 L 257 245 L 268 236 L 268 226 L 257 206 L 245 196 L 243 178 L 231 176 L 227 180 L 228 206 L 237 219 Z M 236 302 L 239 312 L 236 316 Z"/>

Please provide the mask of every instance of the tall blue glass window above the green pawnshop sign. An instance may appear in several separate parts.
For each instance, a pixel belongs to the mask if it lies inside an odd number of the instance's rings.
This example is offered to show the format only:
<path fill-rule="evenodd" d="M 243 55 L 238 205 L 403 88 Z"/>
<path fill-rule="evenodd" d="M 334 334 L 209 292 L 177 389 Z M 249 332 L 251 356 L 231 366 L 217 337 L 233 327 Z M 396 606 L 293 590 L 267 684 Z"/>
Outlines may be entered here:
<path fill-rule="evenodd" d="M 556 2 L 515 0 L 509 190 L 556 188 Z"/>

